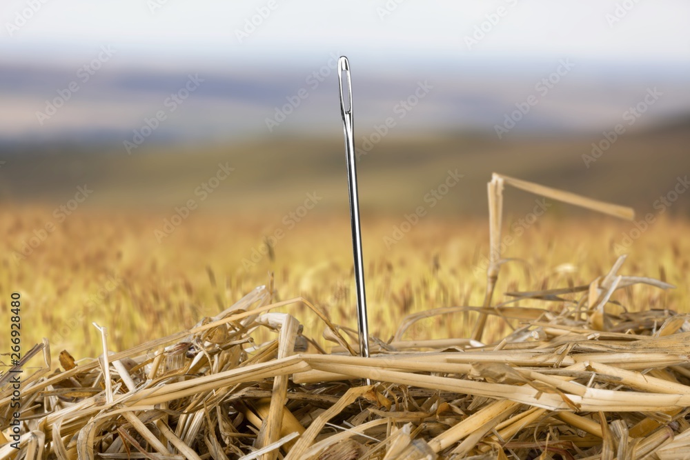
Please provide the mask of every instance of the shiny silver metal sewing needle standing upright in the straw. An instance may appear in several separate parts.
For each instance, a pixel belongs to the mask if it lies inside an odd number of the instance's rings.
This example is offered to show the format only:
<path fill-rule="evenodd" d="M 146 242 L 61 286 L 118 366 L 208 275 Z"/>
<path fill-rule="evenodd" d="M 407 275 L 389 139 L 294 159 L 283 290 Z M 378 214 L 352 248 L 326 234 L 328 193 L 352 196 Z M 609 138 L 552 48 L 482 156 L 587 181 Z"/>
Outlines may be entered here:
<path fill-rule="evenodd" d="M 350 222 L 352 225 L 352 247 L 355 261 L 355 287 L 357 288 L 357 332 L 359 332 L 359 354 L 369 357 L 369 327 L 366 317 L 366 294 L 364 292 L 364 264 L 362 257 L 362 230 L 359 228 L 359 197 L 357 195 L 357 165 L 355 163 L 355 141 L 352 126 L 352 86 L 350 63 L 342 56 L 338 60 L 338 83 L 340 85 L 340 113 L 345 133 L 348 186 L 350 189 Z M 343 83 L 346 88 L 343 90 Z M 366 379 L 366 384 L 371 384 Z"/>

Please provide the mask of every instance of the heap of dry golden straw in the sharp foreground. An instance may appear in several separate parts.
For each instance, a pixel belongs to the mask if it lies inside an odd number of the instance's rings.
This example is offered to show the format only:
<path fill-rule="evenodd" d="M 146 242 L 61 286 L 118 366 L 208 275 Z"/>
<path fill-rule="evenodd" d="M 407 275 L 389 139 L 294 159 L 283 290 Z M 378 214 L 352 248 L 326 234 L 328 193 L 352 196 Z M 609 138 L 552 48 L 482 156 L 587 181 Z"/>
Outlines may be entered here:
<path fill-rule="evenodd" d="M 44 340 L 19 364 L 43 355 L 23 380 L 19 450 L 8 443 L 10 373 L 0 378 L 0 460 L 687 459 L 690 316 L 613 310 L 616 290 L 673 287 L 619 275 L 624 260 L 589 286 L 509 293 L 544 308 L 491 306 L 490 267 L 485 306 L 406 317 L 391 341 L 371 338 L 367 359 L 354 331 L 306 299 L 270 303 L 264 286 L 130 350 L 79 365 L 63 351 L 53 372 Z M 299 303 L 323 322 L 330 353 L 297 318 L 271 311 Z M 481 329 L 473 339 L 403 340 L 415 321 L 466 310 L 513 331 L 489 344 Z M 255 343 L 264 330 L 277 337 Z"/>

